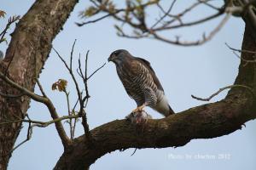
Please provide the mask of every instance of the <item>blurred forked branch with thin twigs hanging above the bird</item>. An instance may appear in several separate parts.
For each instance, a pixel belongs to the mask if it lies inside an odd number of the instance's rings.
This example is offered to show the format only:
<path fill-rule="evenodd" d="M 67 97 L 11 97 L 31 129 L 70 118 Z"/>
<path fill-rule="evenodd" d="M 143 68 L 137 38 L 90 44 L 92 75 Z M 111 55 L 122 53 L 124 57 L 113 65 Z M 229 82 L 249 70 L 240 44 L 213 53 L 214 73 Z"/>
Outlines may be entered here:
<path fill-rule="evenodd" d="M 120 26 L 115 25 L 117 34 L 120 37 L 136 39 L 145 37 L 153 38 L 179 46 L 195 46 L 210 41 L 229 20 L 230 15 L 242 15 L 249 11 L 249 16 L 253 16 L 253 14 L 251 14 L 251 10 L 254 3 L 254 1 L 242 1 L 240 5 L 234 6 L 233 1 L 225 1 L 222 5 L 215 6 L 213 5 L 212 0 L 200 0 L 195 1 L 192 5 L 184 8 L 179 13 L 173 13 L 172 8 L 179 3 L 176 0 L 172 0 L 167 9 L 165 9 L 161 1 L 158 0 L 146 2 L 129 0 L 126 1 L 126 5 L 123 8 L 118 7 L 112 1 L 90 0 L 90 2 L 92 5 L 81 12 L 81 16 L 85 20 L 90 18 L 96 19 L 79 23 L 78 26 L 95 23 L 109 17 L 121 23 Z M 201 6 L 208 8 L 208 11 L 211 13 L 209 12 L 207 16 L 203 16 L 192 21 L 185 20 L 191 11 L 196 11 Z M 156 8 L 160 13 L 160 17 L 155 19 L 156 21 L 153 24 L 151 21 L 148 21 L 147 18 L 147 9 L 149 7 Z M 185 39 L 181 40 L 180 36 L 166 37 L 161 34 L 162 31 L 172 31 L 173 29 L 182 27 L 198 26 L 209 20 L 217 19 L 224 14 L 224 19 L 220 20 L 215 28 L 207 33 L 208 35 L 206 33 L 202 33 L 202 37 L 197 38 L 198 40 L 187 41 Z M 254 19 L 256 20 L 256 17 L 254 17 Z M 125 26 L 130 27 L 133 31 L 131 33 L 127 33 L 125 31 Z"/>

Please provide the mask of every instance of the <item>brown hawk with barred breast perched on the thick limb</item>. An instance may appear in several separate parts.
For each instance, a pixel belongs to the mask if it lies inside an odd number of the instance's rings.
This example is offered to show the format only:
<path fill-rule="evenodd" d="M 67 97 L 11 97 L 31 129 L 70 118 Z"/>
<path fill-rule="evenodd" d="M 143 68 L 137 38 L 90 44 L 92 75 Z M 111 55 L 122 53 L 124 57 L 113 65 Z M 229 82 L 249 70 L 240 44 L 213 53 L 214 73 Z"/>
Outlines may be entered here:
<path fill-rule="evenodd" d="M 142 112 L 145 106 L 149 106 L 163 116 L 174 114 L 148 60 L 134 57 L 127 50 L 119 49 L 110 54 L 108 61 L 116 65 L 119 79 L 127 94 L 137 103 L 137 109 L 133 113 Z"/>

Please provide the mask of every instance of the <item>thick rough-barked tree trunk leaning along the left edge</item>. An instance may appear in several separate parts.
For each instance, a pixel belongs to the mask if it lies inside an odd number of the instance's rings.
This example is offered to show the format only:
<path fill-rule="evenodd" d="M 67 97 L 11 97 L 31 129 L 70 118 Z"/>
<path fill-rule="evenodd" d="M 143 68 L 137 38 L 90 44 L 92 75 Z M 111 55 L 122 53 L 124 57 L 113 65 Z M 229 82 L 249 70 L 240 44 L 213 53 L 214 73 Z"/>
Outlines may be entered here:
<path fill-rule="evenodd" d="M 22 17 L 12 34 L 0 71 L 15 82 L 33 91 L 38 77 L 48 58 L 51 42 L 62 29 L 78 0 L 38 0 Z M 0 80 L 3 94 L 19 94 Z M 30 99 L 7 99 L 0 96 L 0 122 L 24 118 Z M 0 169 L 7 169 L 10 151 L 20 132 L 21 123 L 14 122 L 0 127 Z"/>

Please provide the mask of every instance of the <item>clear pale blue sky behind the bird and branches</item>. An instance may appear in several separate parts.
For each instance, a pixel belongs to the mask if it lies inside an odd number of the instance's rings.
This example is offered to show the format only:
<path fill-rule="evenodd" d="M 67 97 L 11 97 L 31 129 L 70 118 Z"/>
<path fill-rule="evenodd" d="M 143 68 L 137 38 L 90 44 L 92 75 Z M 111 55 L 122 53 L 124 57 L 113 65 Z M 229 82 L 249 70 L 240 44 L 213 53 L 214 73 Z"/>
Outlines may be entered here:
<path fill-rule="evenodd" d="M 23 0 L 22 2 L 1 0 L 0 9 L 6 11 L 7 16 L 4 20 L 0 20 L 0 30 L 3 30 L 9 16 L 26 14 L 33 2 L 32 0 Z M 168 4 L 168 1 L 165 3 Z M 89 72 L 95 71 L 96 68 L 107 62 L 108 56 L 113 50 L 125 48 L 131 54 L 150 61 L 175 112 L 209 103 L 192 99 L 191 94 L 207 97 L 216 92 L 218 88 L 223 88 L 235 81 L 239 59 L 224 43 L 227 42 L 234 48 L 241 48 L 244 31 L 241 19 L 232 17 L 211 42 L 198 47 L 184 48 L 151 39 L 132 40 L 117 37 L 113 28 L 116 22 L 113 20 L 102 20 L 93 25 L 78 27 L 74 23 L 81 21 L 79 11 L 86 6 L 88 6 L 87 1 L 80 1 L 74 8 L 63 31 L 55 37 L 53 46 L 64 59 L 68 60 L 73 41 L 77 39 L 74 61 L 78 59 L 79 54 L 84 56 L 86 51 L 90 50 Z M 177 9 L 187 6 L 188 1 L 183 0 Z M 207 14 L 207 10 L 201 9 L 190 19 L 205 14 Z M 203 31 L 211 30 L 216 23 L 210 22 L 195 29 L 185 29 L 179 32 L 166 32 L 166 36 L 174 37 L 177 33 L 187 39 L 193 39 L 200 36 Z M 9 33 L 13 29 L 14 27 Z M 0 50 L 5 52 L 6 48 L 6 44 L 0 44 Z M 39 80 L 43 84 L 46 94 L 54 102 L 56 110 L 61 115 L 65 115 L 67 113 L 65 95 L 51 90 L 51 84 L 59 78 L 67 79 L 68 91 L 70 91 L 71 101 L 74 103 L 76 92 L 71 77 L 52 51 Z M 82 85 L 82 82 L 79 84 Z M 123 119 L 136 107 L 136 103 L 125 93 L 113 63 L 108 63 L 90 79 L 89 90 L 91 98 L 86 111 L 90 128 L 116 119 Z M 39 94 L 38 88 L 36 88 L 36 93 Z M 226 92 L 219 94 L 211 102 L 223 99 L 225 94 Z M 155 111 L 148 108 L 146 110 L 154 118 L 162 118 Z M 36 102 L 32 101 L 31 108 L 27 112 L 33 120 L 50 120 L 46 107 Z M 67 127 L 67 124 L 65 126 Z M 26 139 L 26 127 L 24 124 L 16 144 Z M 90 169 L 241 170 L 243 168 L 254 170 L 256 168 L 255 128 L 256 122 L 250 121 L 246 123 L 246 127 L 235 133 L 215 139 L 194 139 L 189 144 L 176 149 L 143 149 L 137 150 L 133 156 L 131 154 L 134 149 L 124 152 L 114 151 L 102 156 Z M 83 127 L 79 125 L 76 136 L 81 134 L 83 134 Z M 13 153 L 9 161 L 9 170 L 52 169 L 62 151 L 61 140 L 54 126 L 35 127 L 32 139 Z"/>

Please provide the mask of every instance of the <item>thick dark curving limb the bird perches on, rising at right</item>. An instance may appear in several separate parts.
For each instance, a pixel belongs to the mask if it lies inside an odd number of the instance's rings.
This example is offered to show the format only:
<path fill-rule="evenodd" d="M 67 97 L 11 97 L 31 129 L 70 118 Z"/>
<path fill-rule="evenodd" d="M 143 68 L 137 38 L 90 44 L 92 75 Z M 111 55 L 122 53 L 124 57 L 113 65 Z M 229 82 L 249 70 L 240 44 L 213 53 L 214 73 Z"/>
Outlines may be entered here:
<path fill-rule="evenodd" d="M 242 49 L 256 51 L 253 30 L 246 26 Z M 241 54 L 253 59 L 252 54 Z M 235 84 L 245 85 L 256 94 L 256 63 L 241 61 Z M 143 132 L 125 120 L 108 122 L 91 130 L 93 141 L 84 135 L 65 150 L 55 170 L 90 167 L 101 156 L 127 148 L 165 148 L 182 146 L 191 139 L 211 139 L 241 129 L 241 125 L 256 117 L 256 97 L 245 88 L 232 88 L 225 99 L 197 106 L 160 120 L 149 120 Z"/>

